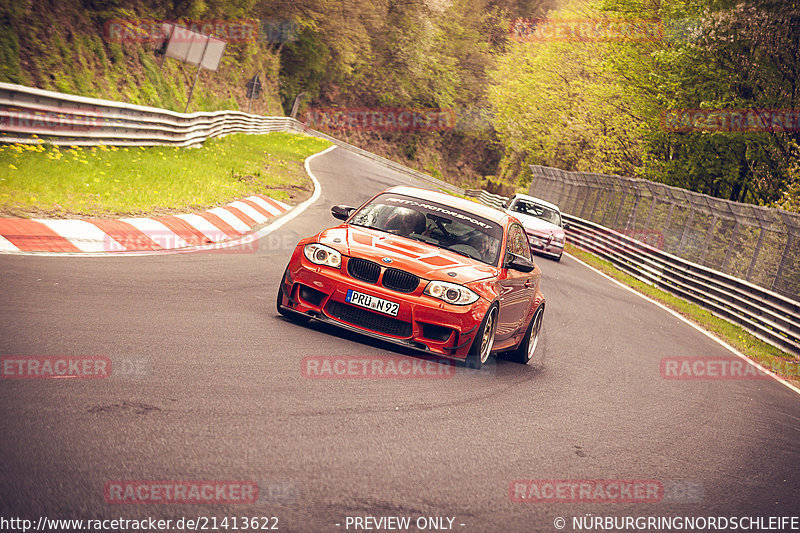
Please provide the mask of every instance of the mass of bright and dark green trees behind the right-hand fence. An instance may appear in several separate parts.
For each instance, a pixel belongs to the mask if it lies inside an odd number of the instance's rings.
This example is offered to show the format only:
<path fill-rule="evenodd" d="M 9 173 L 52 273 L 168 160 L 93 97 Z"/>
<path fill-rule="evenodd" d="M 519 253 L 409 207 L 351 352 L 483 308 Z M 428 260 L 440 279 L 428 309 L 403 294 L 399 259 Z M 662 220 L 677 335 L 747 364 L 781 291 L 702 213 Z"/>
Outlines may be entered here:
<path fill-rule="evenodd" d="M 659 20 L 663 38 L 510 46 L 490 91 L 502 168 L 514 174 L 524 161 L 777 200 L 792 181 L 796 131 L 675 132 L 661 119 L 670 109 L 797 109 L 800 13 L 791 4 L 569 3 L 551 16 Z"/>

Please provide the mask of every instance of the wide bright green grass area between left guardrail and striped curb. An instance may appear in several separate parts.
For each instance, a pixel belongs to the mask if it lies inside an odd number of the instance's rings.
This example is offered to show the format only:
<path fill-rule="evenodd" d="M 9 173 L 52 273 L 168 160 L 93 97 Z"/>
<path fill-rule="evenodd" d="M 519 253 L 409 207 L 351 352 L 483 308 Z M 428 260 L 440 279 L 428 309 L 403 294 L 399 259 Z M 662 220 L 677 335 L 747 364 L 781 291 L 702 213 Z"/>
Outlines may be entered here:
<path fill-rule="evenodd" d="M 229 135 L 199 148 L 0 144 L 0 215 L 188 212 L 255 193 L 293 203 L 312 189 L 303 160 L 329 145 L 290 133 Z"/>

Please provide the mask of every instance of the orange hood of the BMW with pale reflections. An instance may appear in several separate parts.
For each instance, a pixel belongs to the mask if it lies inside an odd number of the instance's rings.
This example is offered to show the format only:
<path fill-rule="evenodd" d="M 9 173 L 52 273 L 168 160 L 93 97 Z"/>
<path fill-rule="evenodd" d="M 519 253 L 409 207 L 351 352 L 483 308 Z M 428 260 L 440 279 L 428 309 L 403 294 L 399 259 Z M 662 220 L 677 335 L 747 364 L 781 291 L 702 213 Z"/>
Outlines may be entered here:
<path fill-rule="evenodd" d="M 471 283 L 498 274 L 497 268 L 480 261 L 378 230 L 345 224 L 327 229 L 317 237 L 320 243 L 346 255 L 405 270 L 424 279 Z M 391 262 L 387 263 L 384 258 Z"/>

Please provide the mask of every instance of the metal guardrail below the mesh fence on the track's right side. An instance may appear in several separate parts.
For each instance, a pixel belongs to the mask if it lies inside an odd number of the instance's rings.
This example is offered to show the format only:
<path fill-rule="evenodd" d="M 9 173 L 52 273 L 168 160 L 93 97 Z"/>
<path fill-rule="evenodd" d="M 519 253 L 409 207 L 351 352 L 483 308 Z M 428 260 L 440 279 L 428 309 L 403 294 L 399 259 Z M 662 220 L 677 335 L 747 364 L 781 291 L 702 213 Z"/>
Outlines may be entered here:
<path fill-rule="evenodd" d="M 474 196 L 473 191 L 468 191 Z M 507 199 L 481 191 L 481 202 Z M 488 200 L 488 201 L 487 201 Z M 595 222 L 562 213 L 567 241 L 611 262 L 648 285 L 689 300 L 743 327 L 761 340 L 800 355 L 800 302 L 692 263 Z"/>

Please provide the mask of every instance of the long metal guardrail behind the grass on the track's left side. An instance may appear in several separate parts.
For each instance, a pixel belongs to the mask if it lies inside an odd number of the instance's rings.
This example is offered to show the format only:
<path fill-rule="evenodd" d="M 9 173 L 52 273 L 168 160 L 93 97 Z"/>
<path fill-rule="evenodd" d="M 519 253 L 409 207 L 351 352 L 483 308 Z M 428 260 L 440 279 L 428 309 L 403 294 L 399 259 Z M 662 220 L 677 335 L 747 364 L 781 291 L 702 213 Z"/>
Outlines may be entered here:
<path fill-rule="evenodd" d="M 460 187 L 308 128 L 289 117 L 264 117 L 241 111 L 185 114 L 0 83 L 0 142 L 192 146 L 230 133 L 275 131 L 320 137 L 434 187 L 464 194 Z"/>

